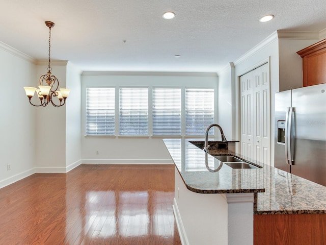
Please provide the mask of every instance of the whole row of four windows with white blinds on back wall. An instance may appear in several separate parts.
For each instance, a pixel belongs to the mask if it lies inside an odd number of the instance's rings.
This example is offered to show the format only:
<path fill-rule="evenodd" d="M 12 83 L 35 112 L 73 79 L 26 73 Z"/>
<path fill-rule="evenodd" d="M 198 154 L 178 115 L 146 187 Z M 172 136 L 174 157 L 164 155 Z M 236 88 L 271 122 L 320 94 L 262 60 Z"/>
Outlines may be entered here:
<path fill-rule="evenodd" d="M 213 88 L 86 88 L 88 136 L 204 136 L 213 122 Z"/>

